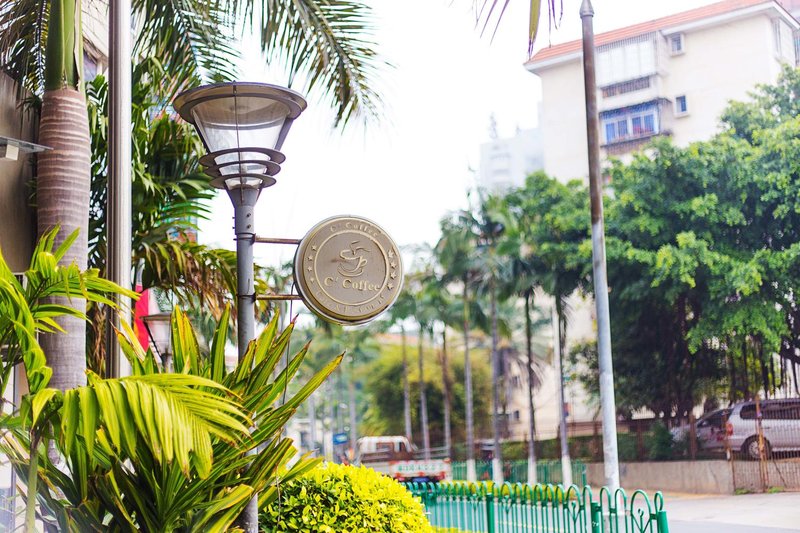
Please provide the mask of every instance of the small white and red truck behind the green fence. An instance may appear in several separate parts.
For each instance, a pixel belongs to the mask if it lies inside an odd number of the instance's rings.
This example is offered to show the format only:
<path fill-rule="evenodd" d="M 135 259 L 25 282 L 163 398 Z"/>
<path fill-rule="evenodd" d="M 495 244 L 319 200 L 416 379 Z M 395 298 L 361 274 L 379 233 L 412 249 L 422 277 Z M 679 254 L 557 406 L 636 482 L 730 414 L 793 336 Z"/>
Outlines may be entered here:
<path fill-rule="evenodd" d="M 355 464 L 372 468 L 400 482 L 439 482 L 452 479 L 449 458 L 425 460 L 423 453 L 401 436 L 361 437 Z"/>

